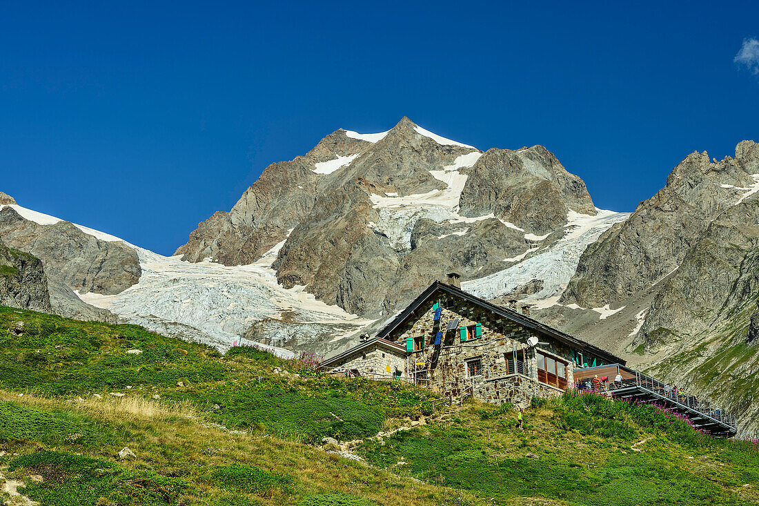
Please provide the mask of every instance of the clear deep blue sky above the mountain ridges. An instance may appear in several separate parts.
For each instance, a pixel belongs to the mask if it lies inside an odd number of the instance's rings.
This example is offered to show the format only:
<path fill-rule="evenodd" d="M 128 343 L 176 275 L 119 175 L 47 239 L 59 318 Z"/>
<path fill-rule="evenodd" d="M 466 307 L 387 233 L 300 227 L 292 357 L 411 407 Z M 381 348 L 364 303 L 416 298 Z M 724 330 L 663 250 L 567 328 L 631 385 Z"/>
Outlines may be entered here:
<path fill-rule="evenodd" d="M 0 191 L 170 254 L 269 163 L 408 115 L 632 210 L 759 141 L 759 7 L 663 3 L 5 2 Z"/>

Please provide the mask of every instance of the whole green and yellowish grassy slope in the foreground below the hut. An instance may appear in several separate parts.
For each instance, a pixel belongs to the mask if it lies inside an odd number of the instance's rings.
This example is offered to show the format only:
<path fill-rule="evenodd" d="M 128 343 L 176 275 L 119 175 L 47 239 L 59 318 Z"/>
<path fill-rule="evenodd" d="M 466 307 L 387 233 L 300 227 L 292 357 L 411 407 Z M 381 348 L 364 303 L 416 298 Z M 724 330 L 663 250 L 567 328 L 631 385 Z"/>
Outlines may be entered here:
<path fill-rule="evenodd" d="M 20 336 L 8 330 L 17 321 Z M 509 406 L 432 417 L 431 399 L 252 349 L 222 357 L 132 325 L 0 308 L 0 481 L 23 481 L 19 492 L 41 504 L 759 501 L 751 444 L 657 410 L 568 397 L 528 410 L 523 432 Z M 314 444 L 423 416 L 426 425 L 359 443 L 366 463 Z M 136 457 L 119 459 L 124 447 Z"/>

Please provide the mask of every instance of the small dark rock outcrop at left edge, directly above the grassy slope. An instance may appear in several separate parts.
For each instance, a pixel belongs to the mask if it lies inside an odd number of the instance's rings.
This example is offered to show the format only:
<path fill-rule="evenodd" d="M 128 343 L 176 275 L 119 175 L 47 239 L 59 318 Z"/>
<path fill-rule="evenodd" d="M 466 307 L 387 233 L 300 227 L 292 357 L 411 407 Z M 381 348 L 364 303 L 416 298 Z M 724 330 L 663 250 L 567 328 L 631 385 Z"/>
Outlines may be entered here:
<path fill-rule="evenodd" d="M 8 248 L 0 240 L 0 305 L 52 312 L 47 277 L 39 258 Z"/>

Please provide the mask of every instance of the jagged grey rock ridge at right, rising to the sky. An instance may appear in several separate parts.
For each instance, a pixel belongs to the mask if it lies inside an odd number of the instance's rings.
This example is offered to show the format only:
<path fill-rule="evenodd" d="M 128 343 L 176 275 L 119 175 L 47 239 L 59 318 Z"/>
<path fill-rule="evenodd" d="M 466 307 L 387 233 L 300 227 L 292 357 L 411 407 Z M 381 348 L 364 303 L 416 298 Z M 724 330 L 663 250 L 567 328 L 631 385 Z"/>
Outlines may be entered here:
<path fill-rule="evenodd" d="M 688 155 L 665 188 L 587 248 L 562 302 L 599 307 L 624 301 L 671 273 L 710 223 L 755 183 L 757 153 L 756 143 L 743 141 L 735 158 L 720 162 L 705 152 Z"/>

